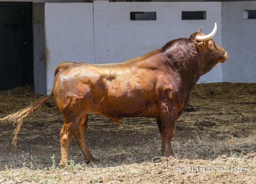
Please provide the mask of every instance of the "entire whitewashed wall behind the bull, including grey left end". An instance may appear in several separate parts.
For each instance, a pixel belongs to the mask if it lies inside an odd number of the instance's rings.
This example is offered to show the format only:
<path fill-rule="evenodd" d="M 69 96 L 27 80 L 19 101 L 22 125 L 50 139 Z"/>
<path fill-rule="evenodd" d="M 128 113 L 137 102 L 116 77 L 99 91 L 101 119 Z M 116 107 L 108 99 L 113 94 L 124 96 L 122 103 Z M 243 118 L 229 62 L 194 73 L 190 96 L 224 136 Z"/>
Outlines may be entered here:
<path fill-rule="evenodd" d="M 37 8 L 37 9 L 36 9 Z M 43 9 L 42 9 L 43 8 Z M 54 70 L 66 60 L 119 63 L 188 37 L 202 25 L 230 59 L 199 82 L 256 82 L 256 20 L 243 19 L 251 2 L 118 2 L 34 4 L 35 90 L 49 94 Z M 44 11 L 44 14 L 40 13 Z M 156 21 L 130 21 L 130 11 L 155 11 Z M 207 11 L 206 20 L 181 20 L 182 11 Z M 38 16 L 38 14 L 41 14 Z M 45 44 L 42 46 L 40 42 Z M 44 80 L 46 78 L 46 80 Z"/>

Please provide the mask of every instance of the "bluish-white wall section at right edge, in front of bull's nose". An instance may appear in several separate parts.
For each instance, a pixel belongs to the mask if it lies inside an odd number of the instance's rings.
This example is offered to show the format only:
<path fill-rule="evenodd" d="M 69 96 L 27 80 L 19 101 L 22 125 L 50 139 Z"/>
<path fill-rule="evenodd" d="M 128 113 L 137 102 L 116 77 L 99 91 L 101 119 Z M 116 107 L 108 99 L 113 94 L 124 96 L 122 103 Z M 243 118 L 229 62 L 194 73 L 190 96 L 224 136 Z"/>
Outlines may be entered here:
<path fill-rule="evenodd" d="M 244 19 L 244 10 L 256 10 L 256 1 L 223 3 L 223 81 L 256 82 L 256 19 Z"/>

